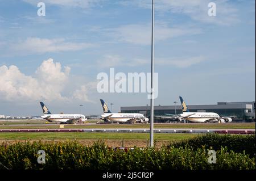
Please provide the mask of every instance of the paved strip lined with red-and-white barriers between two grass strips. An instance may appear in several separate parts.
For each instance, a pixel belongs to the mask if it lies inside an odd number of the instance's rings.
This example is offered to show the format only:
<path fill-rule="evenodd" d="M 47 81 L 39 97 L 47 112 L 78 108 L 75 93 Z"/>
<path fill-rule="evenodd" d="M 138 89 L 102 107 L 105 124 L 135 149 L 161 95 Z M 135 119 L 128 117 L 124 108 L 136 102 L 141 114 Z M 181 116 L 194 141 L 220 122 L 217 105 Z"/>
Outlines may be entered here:
<path fill-rule="evenodd" d="M 150 133 L 149 128 L 96 128 L 96 129 L 0 129 L 0 133 L 11 132 L 100 132 L 100 133 Z M 204 128 L 159 128 L 155 133 L 220 133 L 220 134 L 255 134 L 255 129 L 204 129 Z"/>

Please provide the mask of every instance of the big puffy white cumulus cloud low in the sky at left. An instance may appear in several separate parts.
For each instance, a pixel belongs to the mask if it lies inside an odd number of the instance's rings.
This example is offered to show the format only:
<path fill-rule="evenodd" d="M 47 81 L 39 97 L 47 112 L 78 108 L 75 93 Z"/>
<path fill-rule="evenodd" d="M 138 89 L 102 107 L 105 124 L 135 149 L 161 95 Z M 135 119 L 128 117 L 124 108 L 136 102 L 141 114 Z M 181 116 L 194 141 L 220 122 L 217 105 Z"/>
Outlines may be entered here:
<path fill-rule="evenodd" d="M 0 66 L 0 97 L 5 100 L 71 100 L 72 96 L 64 96 L 63 90 L 69 82 L 70 68 L 62 68 L 59 62 L 51 58 L 42 62 L 35 75 L 23 74 L 15 65 L 9 68 Z M 88 101 L 86 87 L 79 92 L 75 90 L 75 99 Z M 84 94 L 79 96 L 79 94 Z"/>

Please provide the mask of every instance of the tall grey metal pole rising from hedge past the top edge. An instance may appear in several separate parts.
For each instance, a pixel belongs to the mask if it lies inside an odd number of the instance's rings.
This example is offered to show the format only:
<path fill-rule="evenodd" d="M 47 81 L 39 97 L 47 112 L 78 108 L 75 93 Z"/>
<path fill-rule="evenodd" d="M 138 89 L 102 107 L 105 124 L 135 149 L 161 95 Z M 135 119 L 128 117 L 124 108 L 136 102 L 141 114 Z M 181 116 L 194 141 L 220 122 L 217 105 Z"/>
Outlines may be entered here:
<path fill-rule="evenodd" d="M 152 34 L 151 34 L 151 98 L 150 98 L 150 147 L 154 146 L 154 24 L 155 24 L 155 5 L 152 0 Z"/>

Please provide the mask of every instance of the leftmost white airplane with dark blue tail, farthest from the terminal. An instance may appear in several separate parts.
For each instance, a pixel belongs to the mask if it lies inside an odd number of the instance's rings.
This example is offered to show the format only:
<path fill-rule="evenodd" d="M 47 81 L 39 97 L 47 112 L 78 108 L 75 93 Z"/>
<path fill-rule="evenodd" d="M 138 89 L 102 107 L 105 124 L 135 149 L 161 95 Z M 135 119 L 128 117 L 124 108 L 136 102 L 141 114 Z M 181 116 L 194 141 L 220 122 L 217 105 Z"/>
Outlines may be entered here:
<path fill-rule="evenodd" d="M 40 104 L 44 113 L 44 115 L 41 117 L 47 121 L 56 121 L 60 123 L 79 123 L 87 120 L 84 115 L 79 114 L 52 114 L 43 102 L 40 102 Z"/>

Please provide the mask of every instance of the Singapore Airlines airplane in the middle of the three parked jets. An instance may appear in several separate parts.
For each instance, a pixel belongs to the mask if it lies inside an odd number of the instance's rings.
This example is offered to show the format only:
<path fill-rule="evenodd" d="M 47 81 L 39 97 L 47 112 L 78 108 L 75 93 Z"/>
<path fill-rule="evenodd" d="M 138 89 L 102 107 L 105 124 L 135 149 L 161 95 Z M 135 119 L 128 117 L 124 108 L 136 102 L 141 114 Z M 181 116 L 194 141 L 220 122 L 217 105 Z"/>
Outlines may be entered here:
<path fill-rule="evenodd" d="M 105 122 L 111 121 L 116 123 L 148 123 L 148 118 L 141 113 L 112 113 L 110 112 L 104 100 L 100 100 L 104 111 L 104 115 L 101 115 L 101 117 Z"/>

